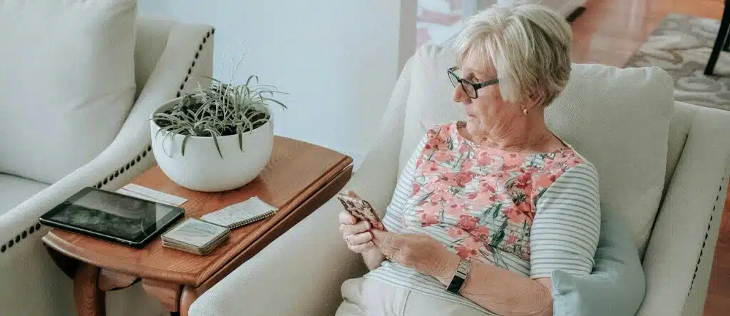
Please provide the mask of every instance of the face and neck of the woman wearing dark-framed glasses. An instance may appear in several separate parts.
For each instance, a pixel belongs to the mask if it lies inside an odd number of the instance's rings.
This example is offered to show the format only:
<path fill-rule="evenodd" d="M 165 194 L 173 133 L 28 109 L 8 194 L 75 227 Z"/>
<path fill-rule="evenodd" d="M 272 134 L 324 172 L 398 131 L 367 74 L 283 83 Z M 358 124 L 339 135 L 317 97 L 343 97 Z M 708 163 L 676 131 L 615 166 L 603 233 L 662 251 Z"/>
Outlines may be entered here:
<path fill-rule="evenodd" d="M 462 79 L 471 82 L 484 82 L 497 77 L 496 70 L 488 63 L 484 66 L 469 55 L 461 64 Z M 509 130 L 516 117 L 523 115 L 518 104 L 512 104 L 502 99 L 499 93 L 499 83 L 477 90 L 477 99 L 469 97 L 461 85 L 454 88 L 454 101 L 466 107 L 466 131 L 472 139 L 483 139 L 488 134 L 502 134 Z"/>

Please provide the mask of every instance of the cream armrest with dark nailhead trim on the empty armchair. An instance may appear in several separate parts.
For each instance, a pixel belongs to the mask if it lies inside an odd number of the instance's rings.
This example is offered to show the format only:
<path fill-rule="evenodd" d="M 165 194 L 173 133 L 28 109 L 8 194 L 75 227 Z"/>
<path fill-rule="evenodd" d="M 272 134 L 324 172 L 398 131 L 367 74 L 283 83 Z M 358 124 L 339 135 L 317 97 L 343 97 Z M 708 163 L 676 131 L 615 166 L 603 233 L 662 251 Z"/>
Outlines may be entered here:
<path fill-rule="evenodd" d="M 210 26 L 172 27 L 145 87 L 112 143 L 92 161 L 0 216 L 0 240 L 13 241 L 0 249 L 0 270 L 4 271 L 0 277 L 4 285 L 0 288 L 0 315 L 75 314 L 71 282 L 42 246 L 41 237 L 49 228 L 40 226 L 38 217 L 81 188 L 116 190 L 153 166 L 147 118 L 179 91 L 196 88 L 189 75 L 211 74 L 211 34 Z M 206 37 L 207 43 L 203 43 Z M 112 307 L 124 311 L 120 315 L 146 315 L 140 309 L 158 308 L 158 304 L 112 301 Z"/>

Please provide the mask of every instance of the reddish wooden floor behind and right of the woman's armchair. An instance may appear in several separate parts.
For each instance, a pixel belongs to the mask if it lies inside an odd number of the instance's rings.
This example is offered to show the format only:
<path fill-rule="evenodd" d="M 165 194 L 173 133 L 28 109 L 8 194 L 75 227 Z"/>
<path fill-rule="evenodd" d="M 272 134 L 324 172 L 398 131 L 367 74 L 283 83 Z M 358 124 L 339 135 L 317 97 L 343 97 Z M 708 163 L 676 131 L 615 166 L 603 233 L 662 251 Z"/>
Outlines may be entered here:
<path fill-rule="evenodd" d="M 623 67 L 667 13 L 720 20 L 724 0 L 588 0 L 572 23 L 575 63 Z M 725 201 L 704 316 L 730 315 L 730 200 Z"/>

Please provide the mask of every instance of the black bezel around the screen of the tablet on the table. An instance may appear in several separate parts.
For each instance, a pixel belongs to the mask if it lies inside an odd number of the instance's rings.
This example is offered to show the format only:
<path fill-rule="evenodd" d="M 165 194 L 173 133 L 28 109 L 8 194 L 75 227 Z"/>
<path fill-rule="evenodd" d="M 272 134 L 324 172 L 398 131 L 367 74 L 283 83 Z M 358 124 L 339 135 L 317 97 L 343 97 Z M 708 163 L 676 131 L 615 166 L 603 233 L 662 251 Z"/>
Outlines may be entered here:
<path fill-rule="evenodd" d="M 55 215 L 55 213 L 61 212 L 61 210 L 65 209 L 69 204 L 73 204 L 74 201 L 77 201 L 78 199 L 81 199 L 83 196 L 86 196 L 87 194 L 89 194 L 91 192 L 95 192 L 95 191 L 100 191 L 102 194 L 114 194 L 117 196 L 122 196 L 124 199 L 134 199 L 137 201 L 143 201 L 147 204 L 153 204 L 153 205 L 155 205 L 155 207 L 162 206 L 167 209 L 170 209 L 170 212 L 168 212 L 164 217 L 162 217 L 160 220 L 157 221 L 157 223 L 156 223 L 157 225 L 155 225 L 155 226 L 157 226 L 157 229 L 155 231 L 150 232 L 150 234 L 145 236 L 143 239 L 134 239 L 134 240 L 126 239 L 121 236 L 113 236 L 113 235 L 106 234 L 105 232 L 101 232 L 101 231 L 93 231 L 93 230 L 86 229 L 86 228 L 71 226 L 68 223 L 61 223 L 61 222 L 58 222 L 58 221 L 50 218 L 53 215 Z M 55 207 L 53 207 L 53 209 L 50 209 L 50 211 L 46 212 L 44 215 L 41 215 L 41 217 L 39 217 L 39 222 L 46 226 L 61 228 L 66 231 L 73 231 L 74 233 L 77 233 L 77 234 L 91 236 L 91 237 L 103 239 L 103 240 L 106 240 L 109 242 L 116 242 L 116 243 L 124 244 L 124 245 L 130 246 L 130 247 L 143 248 L 143 247 L 145 247 L 146 244 L 151 242 L 152 239 L 154 239 L 156 236 L 161 234 L 163 231 L 165 231 L 167 228 L 169 228 L 169 226 L 171 226 L 172 224 L 177 222 L 177 220 L 179 220 L 180 217 L 183 217 L 184 215 L 185 215 L 185 209 L 183 209 L 182 207 L 176 207 L 176 206 L 170 205 L 170 204 L 158 203 L 156 201 L 139 199 L 134 196 L 126 196 L 124 194 L 116 193 L 113 191 L 86 187 L 86 188 L 82 188 L 77 193 L 74 193 L 73 196 L 71 196 L 71 197 L 69 197 L 69 199 L 66 199 L 65 201 L 61 202 L 61 204 L 58 204 Z"/>

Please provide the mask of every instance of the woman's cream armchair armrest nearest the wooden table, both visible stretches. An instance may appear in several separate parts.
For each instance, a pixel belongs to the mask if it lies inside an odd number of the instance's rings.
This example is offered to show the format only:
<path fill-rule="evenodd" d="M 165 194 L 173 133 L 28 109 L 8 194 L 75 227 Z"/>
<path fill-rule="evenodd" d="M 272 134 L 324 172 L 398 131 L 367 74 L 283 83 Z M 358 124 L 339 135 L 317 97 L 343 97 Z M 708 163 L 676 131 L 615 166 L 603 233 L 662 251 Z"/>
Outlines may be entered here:
<path fill-rule="evenodd" d="M 396 186 L 409 82 L 410 61 L 396 82 L 375 145 L 345 185 L 380 215 Z M 366 271 L 361 256 L 342 242 L 341 211 L 339 201 L 328 201 L 203 293 L 189 315 L 334 315 L 342 302 L 342 282 Z"/>

